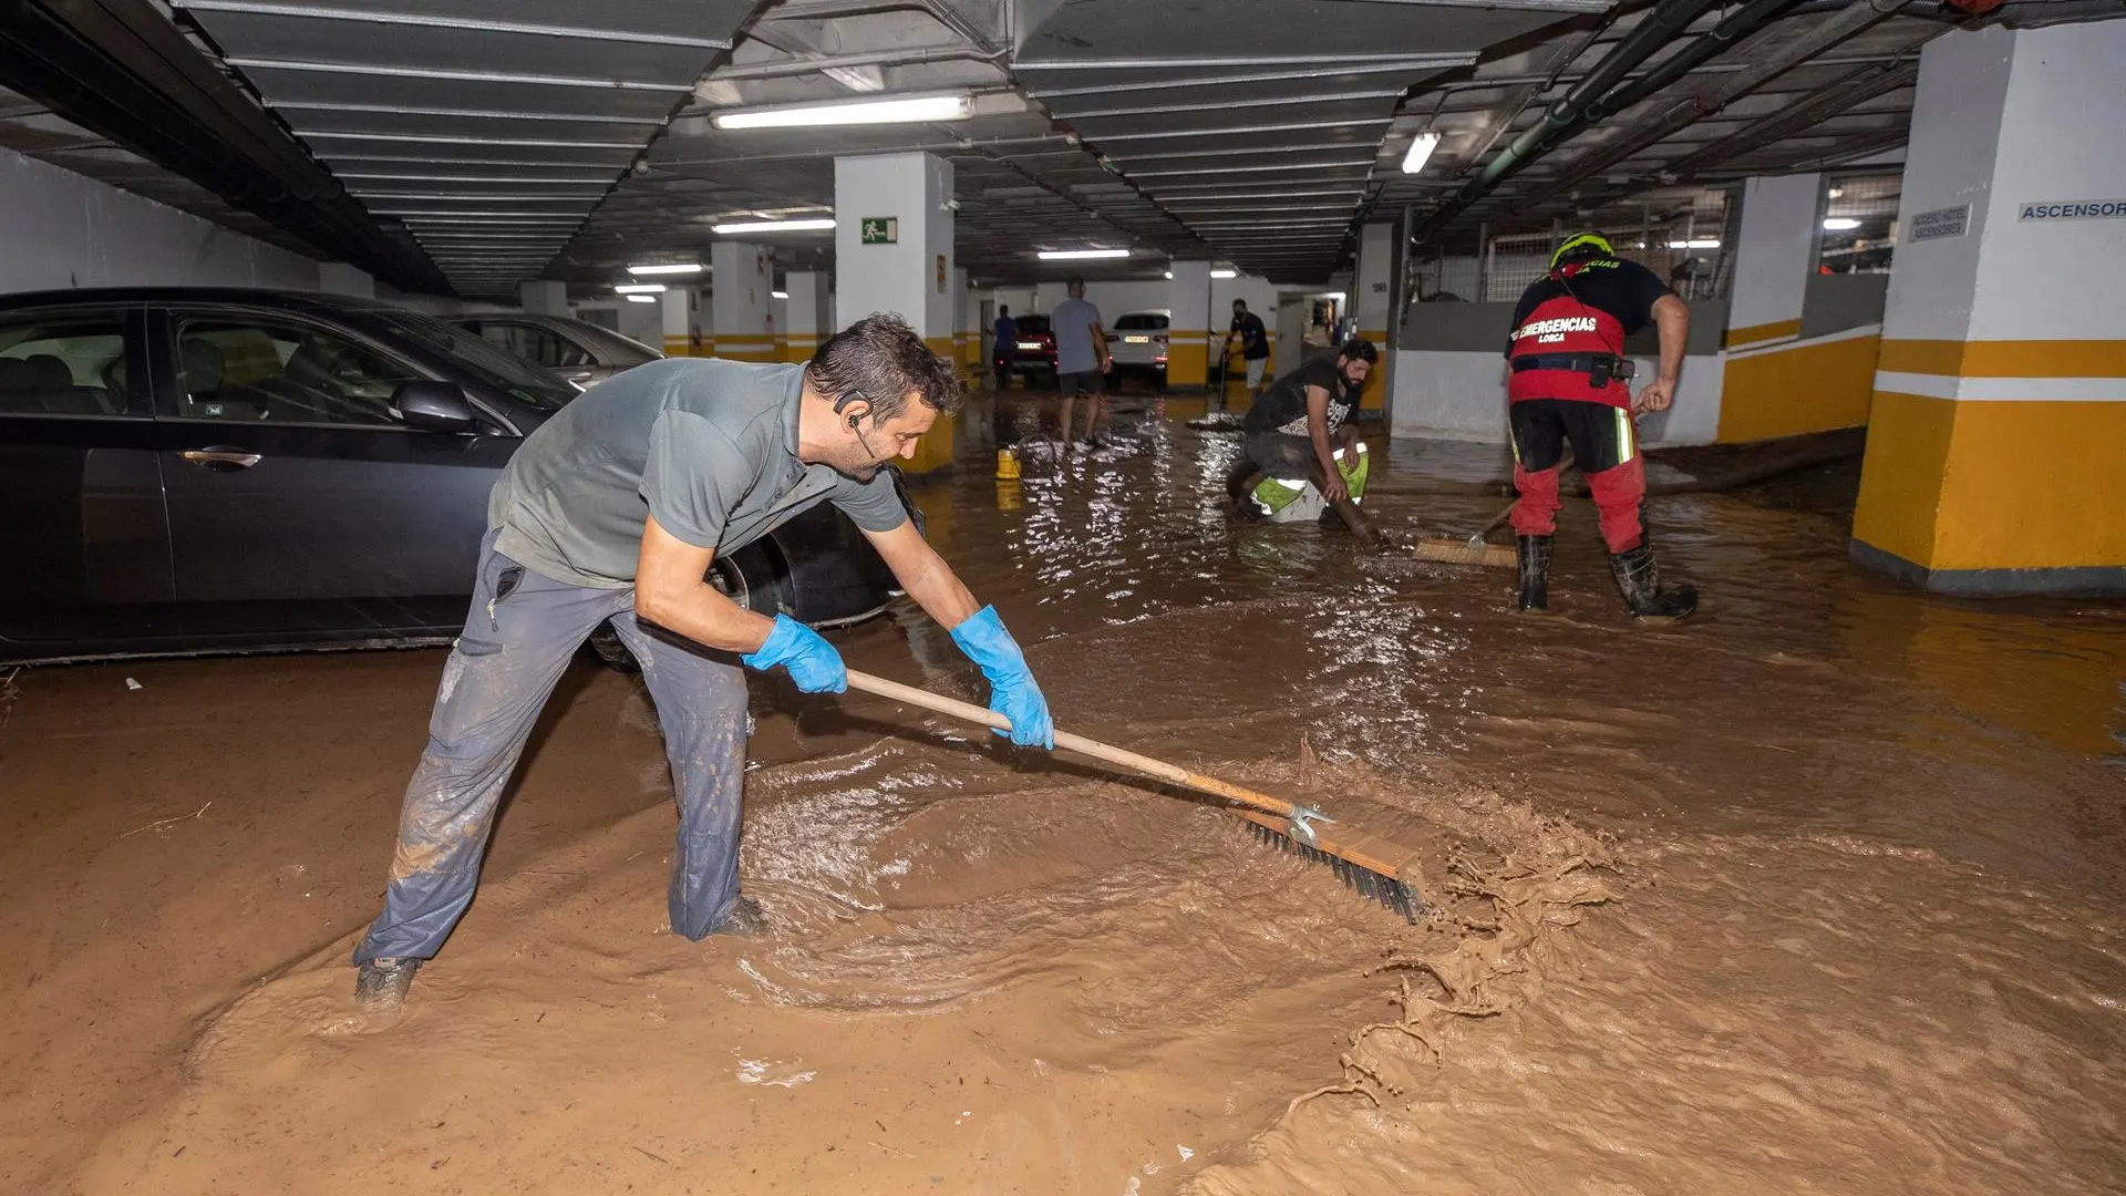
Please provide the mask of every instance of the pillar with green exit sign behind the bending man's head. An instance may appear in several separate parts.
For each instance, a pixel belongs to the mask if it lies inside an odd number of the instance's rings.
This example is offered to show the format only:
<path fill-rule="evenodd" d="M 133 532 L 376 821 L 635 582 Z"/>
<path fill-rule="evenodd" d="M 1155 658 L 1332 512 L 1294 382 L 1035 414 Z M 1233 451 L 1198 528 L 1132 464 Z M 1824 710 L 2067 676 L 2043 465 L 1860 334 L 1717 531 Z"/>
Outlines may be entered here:
<path fill-rule="evenodd" d="M 952 358 L 952 164 L 931 153 L 833 160 L 836 328 L 891 311 L 931 353 Z M 952 460 L 955 419 L 940 417 L 910 472 Z"/>

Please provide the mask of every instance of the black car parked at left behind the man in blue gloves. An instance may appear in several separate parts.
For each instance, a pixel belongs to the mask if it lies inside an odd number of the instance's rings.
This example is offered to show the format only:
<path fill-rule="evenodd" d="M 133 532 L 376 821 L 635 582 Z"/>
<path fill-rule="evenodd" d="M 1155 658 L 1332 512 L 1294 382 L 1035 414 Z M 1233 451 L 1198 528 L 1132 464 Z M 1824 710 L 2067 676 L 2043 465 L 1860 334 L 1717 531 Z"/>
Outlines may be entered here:
<path fill-rule="evenodd" d="M 495 472 L 574 396 L 374 300 L 0 296 L 0 662 L 449 643 Z M 893 583 L 825 504 L 710 581 L 814 626 Z"/>

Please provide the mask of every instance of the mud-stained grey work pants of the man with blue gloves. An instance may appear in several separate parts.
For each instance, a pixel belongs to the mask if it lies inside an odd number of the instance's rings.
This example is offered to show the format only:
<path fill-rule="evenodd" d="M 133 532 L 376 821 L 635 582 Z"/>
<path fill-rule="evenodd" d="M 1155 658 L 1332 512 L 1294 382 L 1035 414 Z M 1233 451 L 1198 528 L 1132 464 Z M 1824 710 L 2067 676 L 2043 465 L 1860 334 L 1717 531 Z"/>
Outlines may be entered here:
<path fill-rule="evenodd" d="M 532 724 L 583 641 L 606 619 L 657 702 L 678 792 L 672 930 L 702 938 L 738 902 L 746 679 L 736 664 L 655 638 L 636 624 L 634 589 L 542 577 L 480 541 L 466 632 L 442 666 L 427 751 L 406 785 L 385 911 L 355 962 L 427 960 L 472 904 L 495 804 Z"/>

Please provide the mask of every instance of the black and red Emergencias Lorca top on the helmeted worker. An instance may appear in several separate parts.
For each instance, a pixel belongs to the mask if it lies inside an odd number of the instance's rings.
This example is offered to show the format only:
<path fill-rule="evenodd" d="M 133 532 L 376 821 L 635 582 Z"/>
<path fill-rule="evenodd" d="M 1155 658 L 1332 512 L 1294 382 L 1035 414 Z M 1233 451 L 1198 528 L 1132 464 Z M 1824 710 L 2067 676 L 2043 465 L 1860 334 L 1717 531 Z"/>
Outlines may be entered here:
<path fill-rule="evenodd" d="M 1624 338 L 1654 319 L 1654 302 L 1669 287 L 1637 262 L 1575 262 L 1539 279 L 1514 309 L 1505 338 L 1507 358 L 1624 355 Z M 1577 398 L 1631 406 L 1631 387 L 1616 379 L 1597 387 L 1588 372 L 1569 368 L 1514 370 L 1507 400 Z"/>

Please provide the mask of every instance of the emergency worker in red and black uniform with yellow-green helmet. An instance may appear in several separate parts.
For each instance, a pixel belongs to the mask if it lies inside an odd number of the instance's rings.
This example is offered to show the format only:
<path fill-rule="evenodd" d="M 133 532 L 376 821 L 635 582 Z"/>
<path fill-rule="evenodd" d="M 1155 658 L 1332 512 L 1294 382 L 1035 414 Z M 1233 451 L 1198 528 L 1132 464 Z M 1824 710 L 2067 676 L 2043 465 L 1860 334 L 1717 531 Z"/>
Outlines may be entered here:
<path fill-rule="evenodd" d="M 1624 338 L 1660 330 L 1660 375 L 1633 400 Z M 1550 536 L 1558 528 L 1565 445 L 1594 492 L 1609 572 L 1641 619 L 1682 619 L 1699 607 L 1690 585 L 1660 589 L 1646 541 L 1646 462 L 1633 417 L 1667 411 L 1684 366 L 1690 309 L 1652 270 L 1622 262 L 1599 232 L 1567 236 L 1550 275 L 1520 296 L 1505 345 L 1512 364 L 1507 415 L 1514 426 L 1514 534 L 1520 609 L 1550 602 Z"/>

